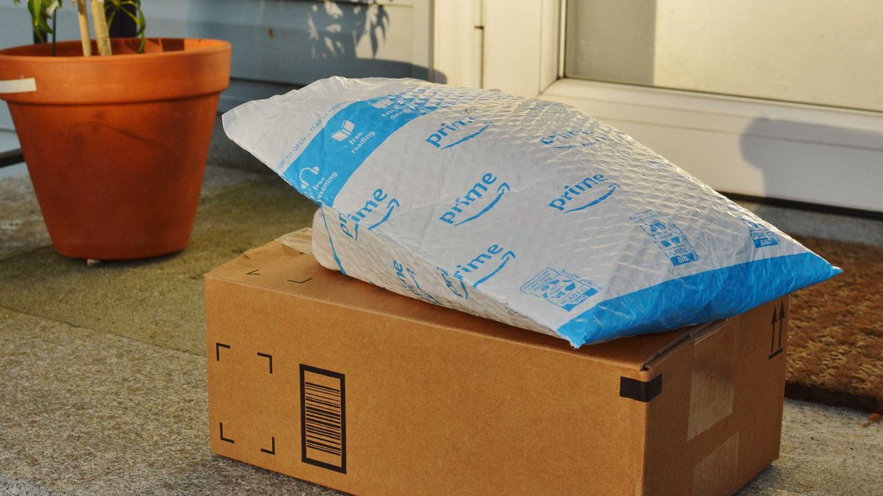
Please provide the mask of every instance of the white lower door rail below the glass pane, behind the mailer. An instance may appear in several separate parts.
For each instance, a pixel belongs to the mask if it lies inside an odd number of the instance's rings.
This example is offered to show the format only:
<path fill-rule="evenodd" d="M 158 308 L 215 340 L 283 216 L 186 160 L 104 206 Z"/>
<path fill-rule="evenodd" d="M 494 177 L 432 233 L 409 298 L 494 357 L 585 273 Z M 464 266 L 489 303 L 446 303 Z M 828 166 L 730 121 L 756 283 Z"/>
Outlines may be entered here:
<path fill-rule="evenodd" d="M 540 98 L 615 125 L 724 192 L 883 211 L 883 114 L 559 79 Z"/>

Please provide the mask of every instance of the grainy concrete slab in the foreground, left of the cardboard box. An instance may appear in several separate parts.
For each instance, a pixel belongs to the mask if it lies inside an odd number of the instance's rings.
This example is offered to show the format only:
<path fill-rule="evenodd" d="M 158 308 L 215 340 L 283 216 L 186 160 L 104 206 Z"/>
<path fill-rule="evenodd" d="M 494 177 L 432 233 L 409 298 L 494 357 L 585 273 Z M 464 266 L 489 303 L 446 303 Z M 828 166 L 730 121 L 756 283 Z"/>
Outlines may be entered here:
<path fill-rule="evenodd" d="M 0 371 L 0 494 L 132 493 L 209 456 L 202 357 L 0 310 Z"/>

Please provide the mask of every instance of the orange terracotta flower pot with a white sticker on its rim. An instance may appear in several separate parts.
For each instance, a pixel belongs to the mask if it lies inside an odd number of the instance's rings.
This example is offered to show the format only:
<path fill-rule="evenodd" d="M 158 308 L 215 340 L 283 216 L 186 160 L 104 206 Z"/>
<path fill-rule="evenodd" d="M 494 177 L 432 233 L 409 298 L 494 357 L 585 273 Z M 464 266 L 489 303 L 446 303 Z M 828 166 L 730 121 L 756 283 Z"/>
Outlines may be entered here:
<path fill-rule="evenodd" d="M 190 241 L 230 43 L 79 41 L 0 50 L 0 98 L 12 121 L 56 250 L 136 259 Z M 93 53 L 97 53 L 93 49 Z M 13 81 L 14 80 L 14 81 Z"/>

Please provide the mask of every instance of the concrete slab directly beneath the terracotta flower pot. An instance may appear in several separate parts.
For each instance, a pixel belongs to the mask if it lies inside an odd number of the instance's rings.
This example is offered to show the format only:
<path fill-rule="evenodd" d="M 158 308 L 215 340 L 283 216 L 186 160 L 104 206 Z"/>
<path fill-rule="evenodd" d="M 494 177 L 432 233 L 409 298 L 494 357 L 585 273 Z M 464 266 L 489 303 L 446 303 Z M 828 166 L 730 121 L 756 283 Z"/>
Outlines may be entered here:
<path fill-rule="evenodd" d="M 314 210 L 275 176 L 209 191 L 185 251 L 95 267 L 49 246 L 21 253 L 0 260 L 0 306 L 201 355 L 202 275 L 309 225 Z"/>

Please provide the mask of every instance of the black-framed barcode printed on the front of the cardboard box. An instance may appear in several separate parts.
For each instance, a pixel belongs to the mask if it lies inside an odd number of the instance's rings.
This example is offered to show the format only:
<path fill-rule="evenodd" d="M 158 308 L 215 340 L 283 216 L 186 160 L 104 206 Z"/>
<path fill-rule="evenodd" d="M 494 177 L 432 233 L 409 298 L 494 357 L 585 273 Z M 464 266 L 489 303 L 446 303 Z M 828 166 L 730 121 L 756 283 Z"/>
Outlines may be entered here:
<path fill-rule="evenodd" d="M 346 473 L 343 374 L 300 365 L 301 460 Z"/>

